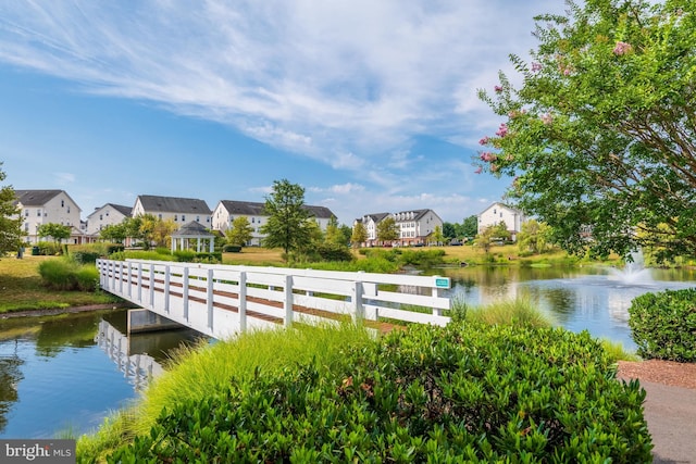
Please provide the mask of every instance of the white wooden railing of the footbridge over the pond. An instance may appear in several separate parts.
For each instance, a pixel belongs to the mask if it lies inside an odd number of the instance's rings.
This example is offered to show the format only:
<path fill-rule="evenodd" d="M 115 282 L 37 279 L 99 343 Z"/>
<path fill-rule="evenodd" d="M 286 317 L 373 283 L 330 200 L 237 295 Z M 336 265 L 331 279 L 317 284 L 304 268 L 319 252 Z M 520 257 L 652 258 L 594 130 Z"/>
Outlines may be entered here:
<path fill-rule="evenodd" d="M 145 260 L 98 260 L 97 268 L 102 289 L 217 339 L 346 315 L 377 328 L 449 322 L 447 277 Z"/>

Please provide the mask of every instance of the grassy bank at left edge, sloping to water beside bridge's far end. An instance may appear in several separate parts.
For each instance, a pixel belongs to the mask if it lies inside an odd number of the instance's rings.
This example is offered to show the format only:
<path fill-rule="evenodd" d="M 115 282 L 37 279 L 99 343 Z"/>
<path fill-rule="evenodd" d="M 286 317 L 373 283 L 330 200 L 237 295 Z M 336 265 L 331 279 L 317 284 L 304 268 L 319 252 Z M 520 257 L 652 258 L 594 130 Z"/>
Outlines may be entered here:
<path fill-rule="evenodd" d="M 8 255 L 0 259 L 0 314 L 12 311 L 48 310 L 120 301 L 104 292 L 55 291 L 44 287 L 38 265 L 57 256 Z"/>

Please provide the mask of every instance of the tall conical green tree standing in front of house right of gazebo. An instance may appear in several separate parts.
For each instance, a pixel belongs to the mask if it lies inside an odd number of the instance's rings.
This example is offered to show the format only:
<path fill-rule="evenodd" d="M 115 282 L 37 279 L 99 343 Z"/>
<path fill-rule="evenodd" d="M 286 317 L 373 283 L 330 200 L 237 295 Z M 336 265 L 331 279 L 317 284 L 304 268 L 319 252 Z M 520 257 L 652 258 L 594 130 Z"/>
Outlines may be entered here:
<path fill-rule="evenodd" d="M 273 191 L 265 199 L 264 210 L 269 220 L 261 226 L 265 235 L 263 246 L 282 248 L 285 259 L 289 252 L 300 250 L 311 242 L 311 224 L 304 205 L 304 189 L 287 179 L 274 180 Z"/>

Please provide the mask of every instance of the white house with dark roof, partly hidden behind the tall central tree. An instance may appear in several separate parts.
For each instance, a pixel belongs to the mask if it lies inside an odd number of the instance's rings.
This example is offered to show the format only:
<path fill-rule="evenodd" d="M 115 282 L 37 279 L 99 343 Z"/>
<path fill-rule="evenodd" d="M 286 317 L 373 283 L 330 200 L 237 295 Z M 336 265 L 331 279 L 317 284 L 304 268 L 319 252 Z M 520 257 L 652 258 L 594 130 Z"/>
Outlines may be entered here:
<path fill-rule="evenodd" d="M 269 215 L 264 211 L 265 203 L 253 201 L 233 201 L 221 200 L 213 211 L 212 228 L 225 233 L 232 227 L 235 218 L 244 216 L 253 228 L 252 238 L 248 246 L 260 246 L 264 235 L 261 234 L 261 227 L 269 220 Z M 322 230 L 326 230 L 328 222 L 334 217 L 334 213 L 325 206 L 304 205 L 310 216 L 316 221 Z"/>

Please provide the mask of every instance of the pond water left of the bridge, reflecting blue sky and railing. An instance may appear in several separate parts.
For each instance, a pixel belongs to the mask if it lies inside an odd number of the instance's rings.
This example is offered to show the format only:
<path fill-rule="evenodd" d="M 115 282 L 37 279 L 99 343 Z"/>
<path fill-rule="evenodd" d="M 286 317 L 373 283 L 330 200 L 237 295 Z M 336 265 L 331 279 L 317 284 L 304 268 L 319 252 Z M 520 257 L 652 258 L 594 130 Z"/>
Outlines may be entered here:
<path fill-rule="evenodd" d="M 184 329 L 124 340 L 125 325 L 125 310 L 0 319 L 0 438 L 96 429 L 172 350 L 200 337 Z"/>

